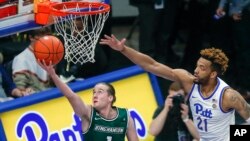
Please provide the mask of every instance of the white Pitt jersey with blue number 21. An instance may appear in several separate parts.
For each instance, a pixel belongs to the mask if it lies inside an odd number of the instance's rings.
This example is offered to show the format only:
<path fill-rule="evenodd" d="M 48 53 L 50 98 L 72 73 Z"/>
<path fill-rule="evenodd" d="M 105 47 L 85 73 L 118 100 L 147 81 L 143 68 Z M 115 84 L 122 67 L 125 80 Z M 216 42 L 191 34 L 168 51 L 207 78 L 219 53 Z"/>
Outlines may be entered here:
<path fill-rule="evenodd" d="M 210 97 L 203 97 L 200 85 L 194 84 L 189 93 L 190 108 L 200 141 L 229 141 L 230 125 L 235 124 L 235 110 L 222 110 L 222 97 L 229 86 L 220 78 Z"/>

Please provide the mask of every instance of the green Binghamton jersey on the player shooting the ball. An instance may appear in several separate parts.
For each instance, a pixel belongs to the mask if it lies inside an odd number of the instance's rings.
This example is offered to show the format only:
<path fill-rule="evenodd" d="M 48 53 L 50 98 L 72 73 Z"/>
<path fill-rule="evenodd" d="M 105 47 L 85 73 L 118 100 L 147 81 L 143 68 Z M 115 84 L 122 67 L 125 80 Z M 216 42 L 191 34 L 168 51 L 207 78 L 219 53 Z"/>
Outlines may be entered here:
<path fill-rule="evenodd" d="M 84 141 L 125 141 L 129 114 L 125 108 L 115 108 L 114 119 L 105 119 L 92 108 L 90 127 L 83 133 Z"/>

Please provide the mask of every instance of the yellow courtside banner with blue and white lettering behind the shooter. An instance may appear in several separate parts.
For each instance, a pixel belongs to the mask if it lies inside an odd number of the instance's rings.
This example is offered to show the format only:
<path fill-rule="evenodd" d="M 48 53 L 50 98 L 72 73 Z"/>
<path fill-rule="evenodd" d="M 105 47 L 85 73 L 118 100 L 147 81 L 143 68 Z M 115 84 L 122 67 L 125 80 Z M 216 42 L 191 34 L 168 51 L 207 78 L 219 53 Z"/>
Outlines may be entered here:
<path fill-rule="evenodd" d="M 90 81 L 83 80 L 77 83 L 81 85 L 88 82 Z M 149 135 L 148 128 L 157 107 L 157 100 L 148 73 L 133 75 L 111 84 L 115 87 L 117 95 L 114 105 L 129 109 L 141 141 L 152 141 L 153 137 Z M 91 104 L 92 87 L 77 93 L 87 104 Z M 41 94 L 50 95 L 50 91 Z M 80 119 L 74 114 L 65 97 L 1 112 L 0 118 L 5 133 L 1 136 L 5 136 L 7 141 L 81 140 Z"/>

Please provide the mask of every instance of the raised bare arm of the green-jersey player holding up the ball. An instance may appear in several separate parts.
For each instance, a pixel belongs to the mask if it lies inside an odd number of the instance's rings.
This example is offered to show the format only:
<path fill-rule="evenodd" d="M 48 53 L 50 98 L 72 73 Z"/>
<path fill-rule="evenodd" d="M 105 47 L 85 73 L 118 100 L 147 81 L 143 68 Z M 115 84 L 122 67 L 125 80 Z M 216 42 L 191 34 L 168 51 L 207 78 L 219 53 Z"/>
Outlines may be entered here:
<path fill-rule="evenodd" d="M 58 75 L 55 72 L 54 66 L 52 63 L 50 65 L 46 65 L 45 61 L 37 61 L 38 64 L 48 72 L 50 77 L 52 78 L 53 82 L 57 86 L 57 88 L 62 92 L 62 94 L 68 99 L 70 102 L 72 108 L 74 109 L 74 112 L 79 117 L 89 117 L 88 114 L 91 113 L 91 109 L 89 106 L 86 106 L 85 103 L 81 100 L 81 98 L 75 94 L 68 85 L 63 83 L 61 79 L 58 77 Z"/>

